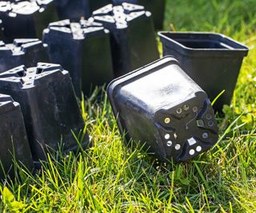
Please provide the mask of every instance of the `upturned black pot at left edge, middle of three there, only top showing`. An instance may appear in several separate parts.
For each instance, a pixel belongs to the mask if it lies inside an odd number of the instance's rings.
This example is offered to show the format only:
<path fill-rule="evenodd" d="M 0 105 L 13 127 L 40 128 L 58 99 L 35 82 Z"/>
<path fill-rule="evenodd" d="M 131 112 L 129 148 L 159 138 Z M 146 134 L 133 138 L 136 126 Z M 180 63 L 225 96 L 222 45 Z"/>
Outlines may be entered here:
<path fill-rule="evenodd" d="M 11 44 L 0 41 L 0 73 L 19 65 L 36 66 L 50 62 L 47 45 L 38 39 L 15 39 Z"/>

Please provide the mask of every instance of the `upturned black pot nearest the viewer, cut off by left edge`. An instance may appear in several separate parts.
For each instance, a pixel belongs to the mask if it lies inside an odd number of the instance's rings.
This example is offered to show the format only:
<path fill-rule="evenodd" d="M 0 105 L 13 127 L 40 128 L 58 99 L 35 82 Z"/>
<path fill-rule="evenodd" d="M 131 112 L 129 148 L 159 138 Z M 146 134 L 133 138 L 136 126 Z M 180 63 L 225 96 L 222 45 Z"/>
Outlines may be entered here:
<path fill-rule="evenodd" d="M 21 108 L 10 96 L 2 94 L 0 120 L 0 179 L 14 178 L 14 161 L 31 171 L 34 165 Z"/>

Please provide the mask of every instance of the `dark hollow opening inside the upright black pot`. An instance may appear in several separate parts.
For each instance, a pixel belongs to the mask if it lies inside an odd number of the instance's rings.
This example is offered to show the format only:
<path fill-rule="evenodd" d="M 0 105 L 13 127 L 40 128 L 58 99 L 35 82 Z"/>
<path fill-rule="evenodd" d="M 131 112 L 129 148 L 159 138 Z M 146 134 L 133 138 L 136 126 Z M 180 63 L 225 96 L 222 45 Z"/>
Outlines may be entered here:
<path fill-rule="evenodd" d="M 176 39 L 180 44 L 192 49 L 233 49 L 220 41 Z"/>

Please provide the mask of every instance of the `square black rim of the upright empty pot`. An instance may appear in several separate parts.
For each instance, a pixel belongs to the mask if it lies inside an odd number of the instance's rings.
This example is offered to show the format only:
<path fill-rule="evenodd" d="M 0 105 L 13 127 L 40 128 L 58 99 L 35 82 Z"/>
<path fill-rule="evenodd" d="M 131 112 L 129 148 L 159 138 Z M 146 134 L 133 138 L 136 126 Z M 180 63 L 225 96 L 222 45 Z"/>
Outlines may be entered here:
<path fill-rule="evenodd" d="M 211 36 L 211 37 L 216 37 L 216 41 L 221 41 L 221 40 L 226 40 L 229 41 L 230 43 L 239 46 L 239 48 L 237 47 L 232 47 L 230 46 L 230 49 L 214 49 L 214 48 L 208 48 L 208 49 L 204 49 L 204 48 L 190 48 L 187 47 L 186 45 L 182 45 L 182 43 L 176 41 L 174 38 L 169 37 L 170 35 L 187 35 L 188 38 L 189 36 L 194 36 L 194 37 L 198 37 L 198 36 Z M 231 37 L 227 37 L 224 34 L 218 34 L 218 33 L 213 33 L 213 32 L 191 32 L 191 31 L 187 31 L 187 32 L 171 32 L 171 31 L 160 31 L 158 32 L 158 36 L 160 37 L 160 40 L 162 41 L 163 44 L 165 44 L 166 42 L 171 43 L 172 45 L 176 46 L 176 50 L 178 50 L 178 52 L 183 52 L 186 54 L 190 54 L 190 53 L 199 53 L 199 52 L 204 52 L 204 53 L 241 53 L 244 57 L 248 54 L 249 52 L 249 48 L 246 45 L 243 45 L 241 42 L 235 41 L 233 38 Z M 182 37 L 183 38 L 183 37 Z M 185 38 L 185 37 L 184 37 Z M 225 41 L 224 41 L 225 42 Z M 168 44 L 166 44 L 168 46 Z M 220 57 L 223 57 L 222 55 Z"/>

